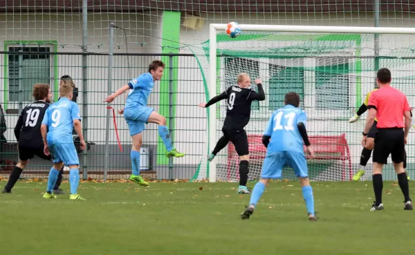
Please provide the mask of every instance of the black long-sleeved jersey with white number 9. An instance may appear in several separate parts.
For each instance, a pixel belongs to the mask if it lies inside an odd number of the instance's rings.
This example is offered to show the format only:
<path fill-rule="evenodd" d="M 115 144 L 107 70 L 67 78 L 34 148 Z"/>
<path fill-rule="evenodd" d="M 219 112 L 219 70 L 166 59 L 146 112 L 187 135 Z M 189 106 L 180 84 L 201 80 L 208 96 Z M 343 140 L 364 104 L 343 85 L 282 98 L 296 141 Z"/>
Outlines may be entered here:
<path fill-rule="evenodd" d="M 219 100 L 227 99 L 226 117 L 223 122 L 223 129 L 227 131 L 239 131 L 243 129 L 250 120 L 252 101 L 265 100 L 264 89 L 261 84 L 257 84 L 259 93 L 252 88 L 241 88 L 240 86 L 230 86 L 221 95 L 213 97 L 212 100 L 206 104 L 206 107 L 218 102 Z"/>

